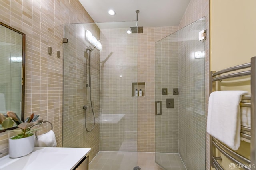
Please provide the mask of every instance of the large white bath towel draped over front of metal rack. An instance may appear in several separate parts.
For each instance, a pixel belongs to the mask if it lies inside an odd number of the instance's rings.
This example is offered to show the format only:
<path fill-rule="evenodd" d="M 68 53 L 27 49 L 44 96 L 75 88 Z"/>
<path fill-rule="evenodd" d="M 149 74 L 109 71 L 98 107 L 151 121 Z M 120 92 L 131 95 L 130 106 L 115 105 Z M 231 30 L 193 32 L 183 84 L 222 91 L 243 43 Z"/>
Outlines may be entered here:
<path fill-rule="evenodd" d="M 240 146 L 240 101 L 247 91 L 215 91 L 210 94 L 207 132 L 232 148 Z"/>

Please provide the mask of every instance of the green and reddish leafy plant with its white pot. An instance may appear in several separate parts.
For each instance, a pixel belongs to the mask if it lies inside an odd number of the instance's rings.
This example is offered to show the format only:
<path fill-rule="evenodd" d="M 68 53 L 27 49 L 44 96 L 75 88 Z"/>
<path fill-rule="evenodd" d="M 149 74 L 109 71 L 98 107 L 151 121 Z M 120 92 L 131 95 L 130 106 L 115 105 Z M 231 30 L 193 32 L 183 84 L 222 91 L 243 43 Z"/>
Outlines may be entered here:
<path fill-rule="evenodd" d="M 39 115 L 32 113 L 25 122 L 21 121 L 16 113 L 7 112 L 7 116 L 0 114 L 0 123 L 3 128 L 10 128 L 14 125 L 21 129 L 21 133 L 9 138 L 9 156 L 18 158 L 30 154 L 34 150 L 35 135 L 31 129 Z"/>

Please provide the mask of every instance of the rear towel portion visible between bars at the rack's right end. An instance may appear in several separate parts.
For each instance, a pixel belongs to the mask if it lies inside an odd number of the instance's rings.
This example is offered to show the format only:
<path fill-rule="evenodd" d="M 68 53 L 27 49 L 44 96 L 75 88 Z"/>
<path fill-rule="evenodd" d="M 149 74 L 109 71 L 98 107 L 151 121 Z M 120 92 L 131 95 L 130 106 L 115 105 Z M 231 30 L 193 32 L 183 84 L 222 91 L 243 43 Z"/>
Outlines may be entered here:
<path fill-rule="evenodd" d="M 241 107 L 241 124 L 245 127 L 251 127 L 251 108 L 250 107 Z M 241 137 L 241 140 L 248 143 L 251 142 L 250 140 L 243 137 Z"/>

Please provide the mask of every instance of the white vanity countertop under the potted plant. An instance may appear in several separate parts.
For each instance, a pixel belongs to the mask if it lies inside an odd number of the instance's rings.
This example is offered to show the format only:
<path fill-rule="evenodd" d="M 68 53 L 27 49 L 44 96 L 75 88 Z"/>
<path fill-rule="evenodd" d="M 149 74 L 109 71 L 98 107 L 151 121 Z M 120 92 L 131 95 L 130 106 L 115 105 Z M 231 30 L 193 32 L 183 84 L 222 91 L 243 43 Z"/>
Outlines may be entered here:
<path fill-rule="evenodd" d="M 0 158 L 0 170 L 71 170 L 89 152 L 90 148 L 35 147 L 20 158 Z"/>

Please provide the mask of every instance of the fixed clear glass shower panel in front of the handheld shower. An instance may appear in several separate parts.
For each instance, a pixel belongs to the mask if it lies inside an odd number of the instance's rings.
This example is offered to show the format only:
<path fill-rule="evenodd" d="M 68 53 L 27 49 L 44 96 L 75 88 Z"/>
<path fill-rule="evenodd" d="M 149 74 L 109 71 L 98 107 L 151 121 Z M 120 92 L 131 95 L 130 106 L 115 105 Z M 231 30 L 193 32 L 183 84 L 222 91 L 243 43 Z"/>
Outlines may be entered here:
<path fill-rule="evenodd" d="M 118 152 L 120 158 L 121 152 L 131 152 L 128 159 L 120 159 L 120 169 L 137 166 L 137 98 L 132 97 L 132 88 L 137 82 L 138 34 L 127 34 L 134 25 L 64 24 L 68 42 L 63 43 L 63 146 L 92 148 L 90 160 L 99 151 Z M 91 51 L 91 57 L 86 47 L 94 45 L 86 38 L 86 30 L 102 45 L 101 50 Z M 87 132 L 85 118 L 89 130 L 94 124 L 92 108 L 96 124 Z"/>

